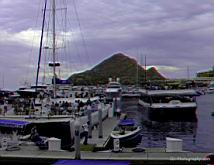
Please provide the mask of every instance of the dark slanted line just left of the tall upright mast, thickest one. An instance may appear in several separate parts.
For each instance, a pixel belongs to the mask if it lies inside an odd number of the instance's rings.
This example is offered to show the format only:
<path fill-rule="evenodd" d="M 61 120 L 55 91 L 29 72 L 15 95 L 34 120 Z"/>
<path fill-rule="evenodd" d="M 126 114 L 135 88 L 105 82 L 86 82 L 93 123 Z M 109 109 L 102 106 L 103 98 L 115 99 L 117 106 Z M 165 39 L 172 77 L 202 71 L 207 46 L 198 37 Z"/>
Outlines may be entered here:
<path fill-rule="evenodd" d="M 47 7 L 47 0 L 45 0 L 45 7 L 44 7 L 44 12 L 43 12 L 43 20 L 42 20 L 42 32 L 41 32 L 40 47 L 39 47 L 39 59 L 38 59 L 37 73 L 36 73 L 36 91 L 37 91 L 37 86 L 38 86 L 40 61 L 41 61 L 41 56 L 42 56 L 42 43 L 43 43 L 46 7 Z"/>

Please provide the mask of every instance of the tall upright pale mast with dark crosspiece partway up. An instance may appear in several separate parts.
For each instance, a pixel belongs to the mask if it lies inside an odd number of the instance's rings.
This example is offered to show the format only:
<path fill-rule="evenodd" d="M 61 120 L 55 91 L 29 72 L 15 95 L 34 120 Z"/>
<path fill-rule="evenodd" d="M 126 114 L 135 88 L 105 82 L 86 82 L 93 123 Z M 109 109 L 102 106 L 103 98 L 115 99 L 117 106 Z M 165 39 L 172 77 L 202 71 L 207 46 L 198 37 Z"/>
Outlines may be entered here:
<path fill-rule="evenodd" d="M 56 98 L 56 29 L 55 29 L 55 17 L 56 17 L 56 2 L 52 0 L 52 17 L 53 17 L 53 94 Z"/>

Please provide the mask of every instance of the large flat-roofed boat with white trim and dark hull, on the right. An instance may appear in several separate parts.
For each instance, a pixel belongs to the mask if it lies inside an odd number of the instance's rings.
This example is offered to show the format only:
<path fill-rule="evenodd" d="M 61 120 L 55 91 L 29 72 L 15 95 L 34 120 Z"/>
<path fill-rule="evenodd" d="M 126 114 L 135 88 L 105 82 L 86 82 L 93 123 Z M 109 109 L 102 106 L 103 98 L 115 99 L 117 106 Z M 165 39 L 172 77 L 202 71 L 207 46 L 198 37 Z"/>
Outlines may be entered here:
<path fill-rule="evenodd" d="M 196 120 L 195 90 L 141 90 L 143 117 L 152 121 Z"/>

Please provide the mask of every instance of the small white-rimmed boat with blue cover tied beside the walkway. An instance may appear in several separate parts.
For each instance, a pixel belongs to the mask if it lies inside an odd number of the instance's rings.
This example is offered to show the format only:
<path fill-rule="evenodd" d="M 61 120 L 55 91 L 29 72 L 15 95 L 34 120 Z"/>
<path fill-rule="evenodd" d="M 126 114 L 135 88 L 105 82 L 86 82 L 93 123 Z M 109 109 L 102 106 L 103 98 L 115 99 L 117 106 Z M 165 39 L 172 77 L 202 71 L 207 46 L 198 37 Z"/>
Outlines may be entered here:
<path fill-rule="evenodd" d="M 141 126 L 133 119 L 124 119 L 111 132 L 110 138 L 120 140 L 120 147 L 136 147 L 141 142 Z"/>

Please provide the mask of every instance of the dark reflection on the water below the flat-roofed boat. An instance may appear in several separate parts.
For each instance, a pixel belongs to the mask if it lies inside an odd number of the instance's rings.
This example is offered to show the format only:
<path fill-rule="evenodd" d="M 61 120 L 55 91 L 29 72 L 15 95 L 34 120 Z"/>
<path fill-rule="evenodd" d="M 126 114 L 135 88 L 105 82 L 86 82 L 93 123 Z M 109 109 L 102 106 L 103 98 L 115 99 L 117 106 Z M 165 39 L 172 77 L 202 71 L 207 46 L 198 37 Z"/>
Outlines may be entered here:
<path fill-rule="evenodd" d="M 185 142 L 195 143 L 196 122 L 153 122 L 142 125 L 143 147 L 165 147 L 166 137 L 181 138 Z"/>

